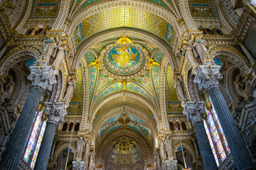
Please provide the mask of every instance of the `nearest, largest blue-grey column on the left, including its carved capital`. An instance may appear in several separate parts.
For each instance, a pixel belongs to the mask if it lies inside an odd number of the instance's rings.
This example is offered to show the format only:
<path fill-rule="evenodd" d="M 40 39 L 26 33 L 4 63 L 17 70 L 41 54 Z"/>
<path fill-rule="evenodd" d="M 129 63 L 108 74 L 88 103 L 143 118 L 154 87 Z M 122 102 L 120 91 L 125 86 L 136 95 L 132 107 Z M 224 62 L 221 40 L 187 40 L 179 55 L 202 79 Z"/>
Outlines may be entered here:
<path fill-rule="evenodd" d="M 18 168 L 18 162 L 26 148 L 26 140 L 30 135 L 33 120 L 36 118 L 36 110 L 41 97 L 46 89 L 51 90 L 52 85 L 56 83 L 52 67 L 44 65 L 31 66 L 30 69 L 31 74 L 28 75 L 28 79 L 32 81 L 32 86 L 11 139 L 6 146 L 0 169 Z"/>

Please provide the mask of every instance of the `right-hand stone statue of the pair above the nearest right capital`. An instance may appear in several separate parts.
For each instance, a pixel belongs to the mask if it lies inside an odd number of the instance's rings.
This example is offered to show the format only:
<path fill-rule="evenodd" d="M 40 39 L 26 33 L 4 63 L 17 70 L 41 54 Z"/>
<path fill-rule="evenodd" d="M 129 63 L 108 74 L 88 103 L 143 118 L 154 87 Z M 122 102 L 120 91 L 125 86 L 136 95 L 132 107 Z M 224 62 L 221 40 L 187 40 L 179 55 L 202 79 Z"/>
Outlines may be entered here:
<path fill-rule="evenodd" d="M 208 50 L 206 48 L 206 43 L 199 36 L 196 36 L 195 42 L 193 42 L 193 47 L 196 47 L 196 52 L 201 59 L 201 62 L 207 58 Z"/>

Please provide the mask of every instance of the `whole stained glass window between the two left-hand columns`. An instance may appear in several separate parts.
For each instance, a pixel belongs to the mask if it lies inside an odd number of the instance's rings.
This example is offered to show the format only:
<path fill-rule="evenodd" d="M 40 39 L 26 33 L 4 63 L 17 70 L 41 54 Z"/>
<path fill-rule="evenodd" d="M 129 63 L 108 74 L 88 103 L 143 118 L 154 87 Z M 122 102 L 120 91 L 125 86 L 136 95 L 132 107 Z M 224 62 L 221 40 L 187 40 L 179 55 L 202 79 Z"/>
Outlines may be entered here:
<path fill-rule="evenodd" d="M 33 169 L 36 164 L 36 157 L 38 156 L 38 151 L 41 146 L 43 133 L 46 130 L 46 121 L 42 120 L 42 114 L 43 111 L 37 113 L 36 121 L 33 125 L 26 147 L 26 152 L 23 156 L 23 160 L 31 166 L 31 169 Z"/>

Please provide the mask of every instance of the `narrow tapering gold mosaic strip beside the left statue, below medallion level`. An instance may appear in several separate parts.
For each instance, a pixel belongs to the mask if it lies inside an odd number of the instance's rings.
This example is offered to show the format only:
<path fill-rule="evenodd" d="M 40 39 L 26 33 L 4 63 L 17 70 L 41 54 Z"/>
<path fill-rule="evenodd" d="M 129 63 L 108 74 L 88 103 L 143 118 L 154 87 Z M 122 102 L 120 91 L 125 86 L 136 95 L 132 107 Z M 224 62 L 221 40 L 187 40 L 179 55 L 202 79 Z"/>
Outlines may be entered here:
<path fill-rule="evenodd" d="M 67 108 L 67 112 L 70 115 L 81 115 L 82 114 L 82 95 L 83 95 L 83 87 L 82 87 L 82 67 L 81 65 L 78 68 L 78 72 L 76 74 L 77 81 L 75 82 L 75 89 L 73 93 L 73 97 L 69 103 L 69 107 Z"/>

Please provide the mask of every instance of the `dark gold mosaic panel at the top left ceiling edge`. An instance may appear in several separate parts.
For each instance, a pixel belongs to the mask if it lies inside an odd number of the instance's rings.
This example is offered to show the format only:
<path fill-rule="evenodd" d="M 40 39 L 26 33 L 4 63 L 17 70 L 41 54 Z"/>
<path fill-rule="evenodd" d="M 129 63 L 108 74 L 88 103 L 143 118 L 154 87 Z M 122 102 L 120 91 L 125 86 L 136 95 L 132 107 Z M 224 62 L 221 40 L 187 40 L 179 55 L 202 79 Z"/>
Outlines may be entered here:
<path fill-rule="evenodd" d="M 29 18 L 55 18 L 59 7 L 59 0 L 33 0 Z"/>

